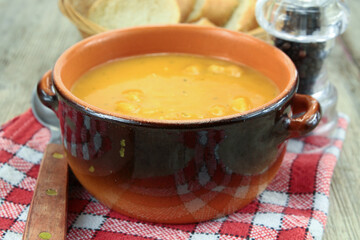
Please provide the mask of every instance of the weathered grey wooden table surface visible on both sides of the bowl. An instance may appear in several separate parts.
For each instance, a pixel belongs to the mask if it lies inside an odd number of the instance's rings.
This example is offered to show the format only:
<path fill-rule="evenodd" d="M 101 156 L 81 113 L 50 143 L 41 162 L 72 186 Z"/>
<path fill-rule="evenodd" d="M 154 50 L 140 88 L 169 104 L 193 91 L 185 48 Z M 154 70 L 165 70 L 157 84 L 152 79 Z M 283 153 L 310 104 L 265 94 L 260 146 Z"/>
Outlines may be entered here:
<path fill-rule="evenodd" d="M 350 125 L 332 178 L 324 239 L 360 239 L 360 1 L 329 57 L 338 110 Z M 0 123 L 30 108 L 34 86 L 68 47 L 81 40 L 57 0 L 0 0 Z"/>

